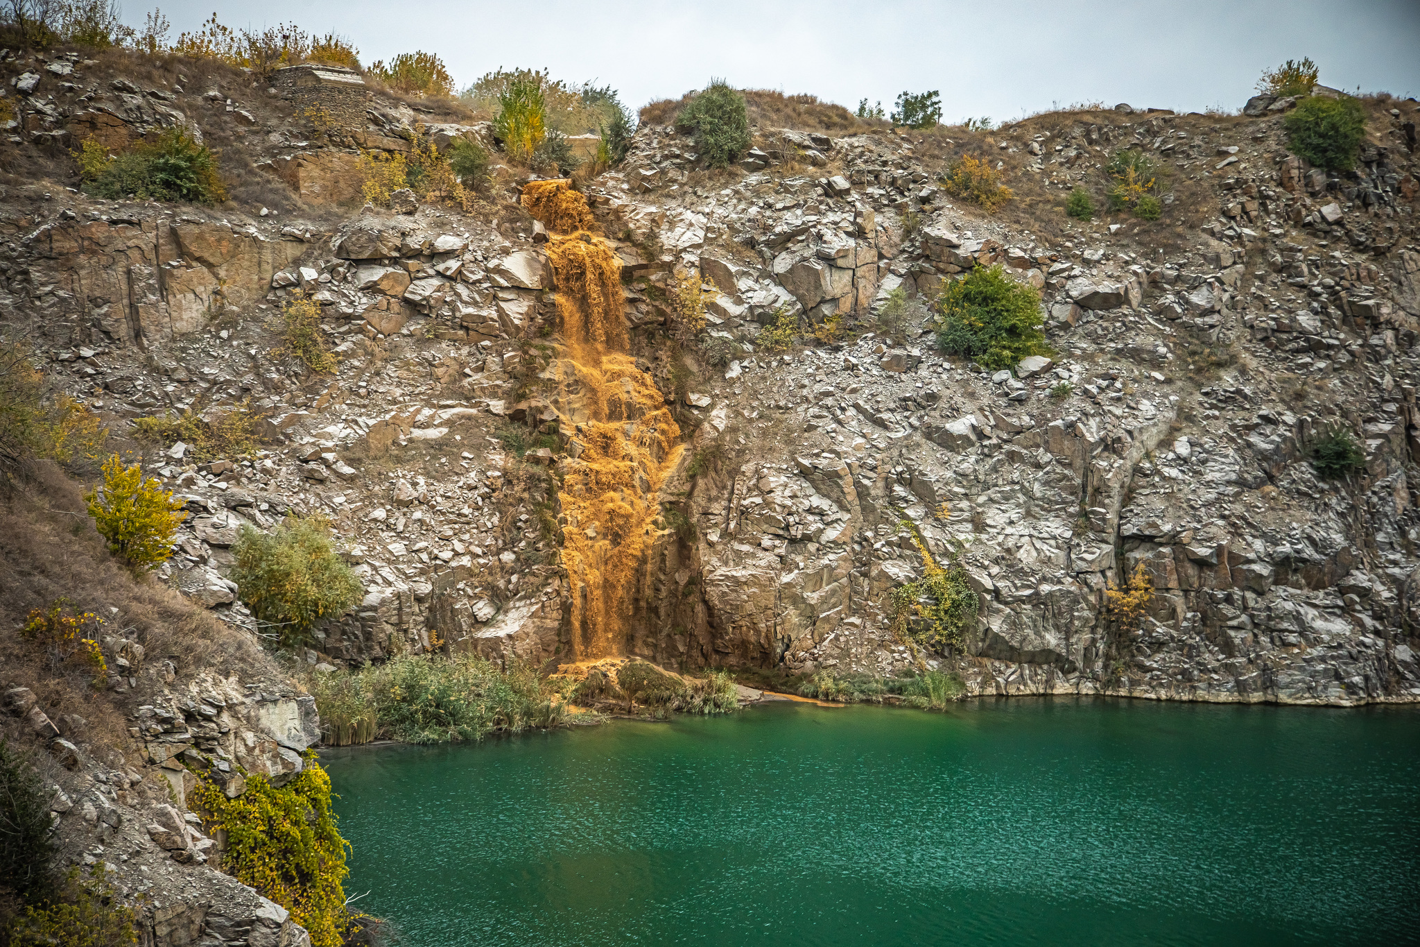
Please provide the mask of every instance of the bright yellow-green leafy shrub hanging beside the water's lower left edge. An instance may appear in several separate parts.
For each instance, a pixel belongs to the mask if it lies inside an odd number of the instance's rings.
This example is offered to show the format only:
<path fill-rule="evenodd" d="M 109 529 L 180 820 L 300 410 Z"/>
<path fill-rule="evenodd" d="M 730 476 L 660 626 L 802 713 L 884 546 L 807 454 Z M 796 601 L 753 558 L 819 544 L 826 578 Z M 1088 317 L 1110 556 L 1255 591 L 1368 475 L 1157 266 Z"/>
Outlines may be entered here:
<path fill-rule="evenodd" d="M 311 947 L 341 947 L 351 929 L 342 882 L 349 875 L 331 812 L 331 778 L 315 754 L 284 787 L 248 775 L 246 791 L 229 799 L 200 779 L 193 801 L 207 811 L 207 831 L 224 832 L 222 870 L 291 912 Z"/>

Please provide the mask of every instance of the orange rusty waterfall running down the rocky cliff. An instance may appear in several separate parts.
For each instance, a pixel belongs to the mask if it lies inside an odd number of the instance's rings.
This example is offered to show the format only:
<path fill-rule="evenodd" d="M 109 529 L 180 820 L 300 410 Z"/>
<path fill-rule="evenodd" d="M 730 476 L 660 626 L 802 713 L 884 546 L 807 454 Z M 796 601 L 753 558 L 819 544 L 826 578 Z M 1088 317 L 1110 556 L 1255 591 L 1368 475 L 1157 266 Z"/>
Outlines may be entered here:
<path fill-rule="evenodd" d="M 565 344 L 552 366 L 562 432 L 562 564 L 571 581 L 575 660 L 622 655 L 642 557 L 660 514 L 656 494 L 683 450 L 650 375 L 626 354 L 621 261 L 594 233 L 586 199 L 567 180 L 534 180 L 523 206 L 551 231 L 548 260 Z M 574 456 L 575 454 L 575 456 Z"/>

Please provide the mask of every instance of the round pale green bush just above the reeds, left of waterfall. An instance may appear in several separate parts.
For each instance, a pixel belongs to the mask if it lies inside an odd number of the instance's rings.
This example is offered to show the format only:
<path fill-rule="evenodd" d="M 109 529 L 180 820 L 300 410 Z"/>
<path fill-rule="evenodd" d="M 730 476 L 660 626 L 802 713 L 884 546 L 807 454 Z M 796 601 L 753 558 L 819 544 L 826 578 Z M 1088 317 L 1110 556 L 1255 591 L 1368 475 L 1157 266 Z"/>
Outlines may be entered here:
<path fill-rule="evenodd" d="M 322 517 L 287 517 L 274 532 L 243 525 L 231 552 L 231 581 L 241 601 L 288 647 L 359 596 L 359 579 L 335 552 L 329 521 Z"/>

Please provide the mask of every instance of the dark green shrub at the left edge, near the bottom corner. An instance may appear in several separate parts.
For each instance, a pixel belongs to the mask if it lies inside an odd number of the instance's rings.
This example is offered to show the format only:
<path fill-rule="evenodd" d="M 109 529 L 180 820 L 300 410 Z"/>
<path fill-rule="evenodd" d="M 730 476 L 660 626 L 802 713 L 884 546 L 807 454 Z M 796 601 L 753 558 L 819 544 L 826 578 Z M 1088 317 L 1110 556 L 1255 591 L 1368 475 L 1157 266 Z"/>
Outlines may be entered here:
<path fill-rule="evenodd" d="M 0 889 L 26 900 L 50 893 L 50 799 L 30 758 L 0 740 Z"/>

